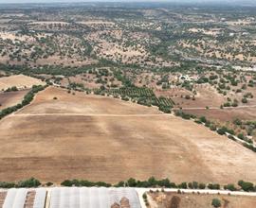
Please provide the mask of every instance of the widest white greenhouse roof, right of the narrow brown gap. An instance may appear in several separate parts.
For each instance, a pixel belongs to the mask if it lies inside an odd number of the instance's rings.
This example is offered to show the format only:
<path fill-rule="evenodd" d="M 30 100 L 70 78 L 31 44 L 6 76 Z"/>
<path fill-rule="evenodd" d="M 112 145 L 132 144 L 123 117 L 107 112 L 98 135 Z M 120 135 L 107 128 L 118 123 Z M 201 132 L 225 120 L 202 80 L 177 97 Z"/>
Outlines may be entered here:
<path fill-rule="evenodd" d="M 140 208 L 137 192 L 133 188 L 61 187 L 50 190 L 50 208 L 110 208 L 122 198 L 131 208 Z"/>

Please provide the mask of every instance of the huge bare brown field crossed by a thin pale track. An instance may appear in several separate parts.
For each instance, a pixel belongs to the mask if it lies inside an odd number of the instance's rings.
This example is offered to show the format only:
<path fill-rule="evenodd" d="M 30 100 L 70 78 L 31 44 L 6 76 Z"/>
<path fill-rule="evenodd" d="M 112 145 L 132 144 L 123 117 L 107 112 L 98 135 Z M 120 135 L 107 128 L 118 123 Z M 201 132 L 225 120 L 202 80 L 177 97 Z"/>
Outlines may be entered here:
<path fill-rule="evenodd" d="M 57 99 L 53 99 L 57 97 Z M 192 121 L 49 87 L 0 121 L 0 178 L 256 182 L 256 155 Z"/>

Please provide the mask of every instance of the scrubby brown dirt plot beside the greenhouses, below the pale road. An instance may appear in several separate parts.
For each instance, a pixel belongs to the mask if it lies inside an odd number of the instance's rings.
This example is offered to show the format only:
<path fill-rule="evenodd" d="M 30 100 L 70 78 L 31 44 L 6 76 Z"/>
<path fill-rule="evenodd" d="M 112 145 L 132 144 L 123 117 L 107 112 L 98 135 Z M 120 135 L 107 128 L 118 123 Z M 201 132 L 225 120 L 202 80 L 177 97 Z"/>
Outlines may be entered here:
<path fill-rule="evenodd" d="M 255 197 L 197 194 L 149 193 L 150 208 L 212 208 L 211 200 L 220 199 L 221 208 L 254 208 Z"/>

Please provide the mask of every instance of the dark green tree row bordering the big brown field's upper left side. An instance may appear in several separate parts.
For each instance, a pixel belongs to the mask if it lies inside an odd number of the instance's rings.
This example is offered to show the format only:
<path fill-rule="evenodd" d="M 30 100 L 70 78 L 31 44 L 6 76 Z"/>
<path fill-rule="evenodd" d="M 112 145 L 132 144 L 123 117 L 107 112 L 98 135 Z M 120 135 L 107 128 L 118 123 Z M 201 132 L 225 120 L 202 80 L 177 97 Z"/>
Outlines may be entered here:
<path fill-rule="evenodd" d="M 46 88 L 46 86 L 42 85 L 34 85 L 32 89 L 27 93 L 27 95 L 24 96 L 23 101 L 15 106 L 6 108 L 0 112 L 0 119 L 7 116 L 9 113 L 16 112 L 17 110 L 23 108 L 27 104 L 29 104 L 32 100 L 35 94 L 37 94 L 39 91 L 42 91 Z"/>

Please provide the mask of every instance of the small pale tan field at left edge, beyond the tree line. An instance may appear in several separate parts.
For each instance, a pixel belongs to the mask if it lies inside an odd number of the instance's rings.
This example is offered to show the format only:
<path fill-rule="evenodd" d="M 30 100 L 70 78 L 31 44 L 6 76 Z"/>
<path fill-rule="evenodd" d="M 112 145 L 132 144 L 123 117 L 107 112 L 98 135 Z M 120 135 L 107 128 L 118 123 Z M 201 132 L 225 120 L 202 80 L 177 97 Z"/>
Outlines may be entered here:
<path fill-rule="evenodd" d="M 0 78 L 0 90 L 16 86 L 19 89 L 31 88 L 33 85 L 44 85 L 45 83 L 38 78 L 30 78 L 24 75 L 15 75 Z"/>

